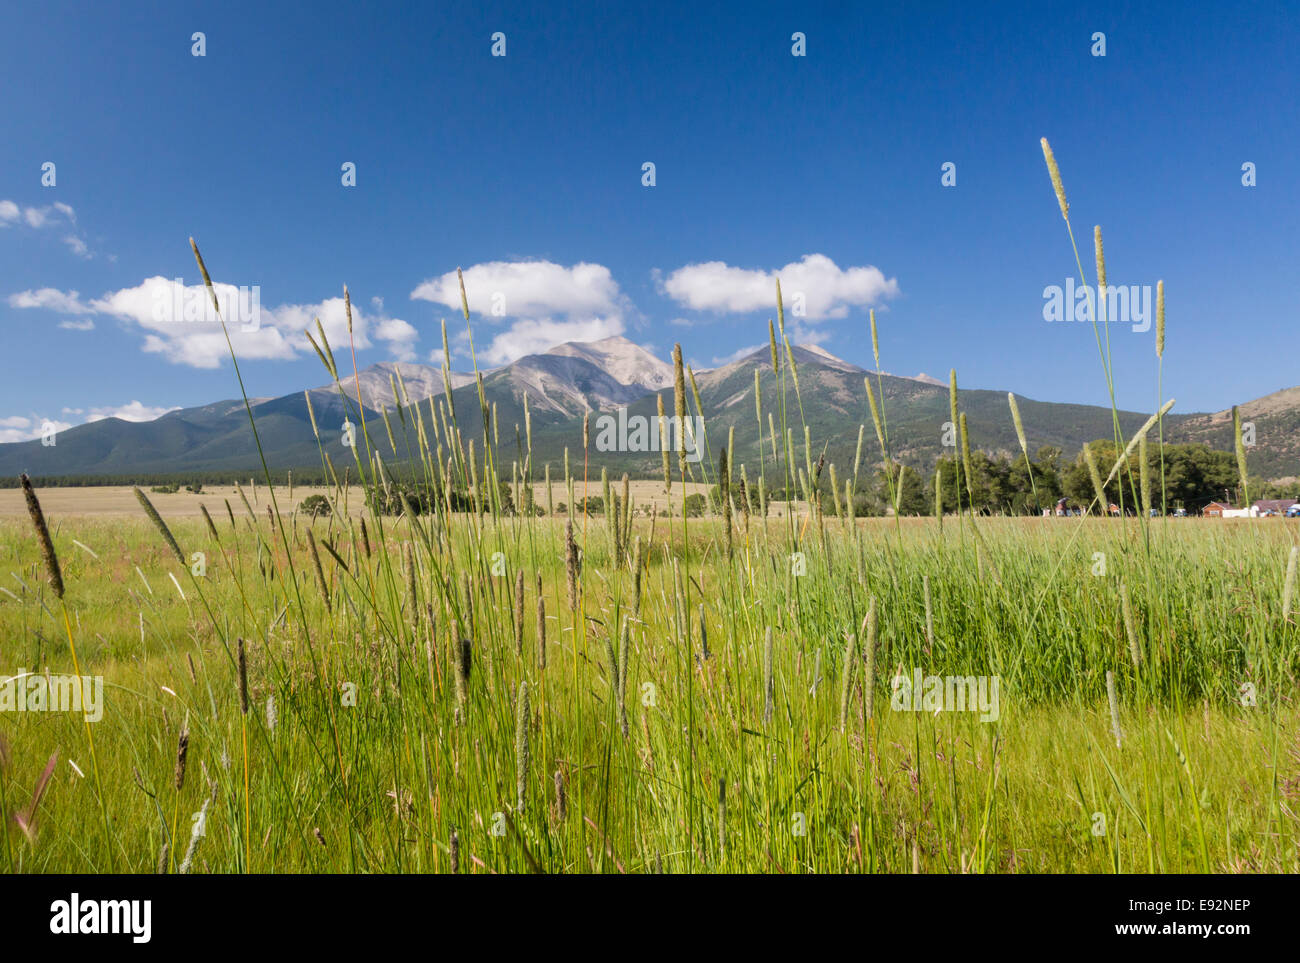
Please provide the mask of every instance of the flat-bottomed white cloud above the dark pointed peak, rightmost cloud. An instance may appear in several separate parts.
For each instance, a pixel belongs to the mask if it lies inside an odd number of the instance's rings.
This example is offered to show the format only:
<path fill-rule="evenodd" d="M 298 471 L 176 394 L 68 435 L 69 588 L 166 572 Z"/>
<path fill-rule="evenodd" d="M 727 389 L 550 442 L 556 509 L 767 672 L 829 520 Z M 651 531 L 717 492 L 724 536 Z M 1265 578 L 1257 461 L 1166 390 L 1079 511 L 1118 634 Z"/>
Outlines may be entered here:
<path fill-rule="evenodd" d="M 840 268 L 826 255 L 805 255 L 802 260 L 776 270 L 733 268 L 725 261 L 688 264 L 659 282 L 660 290 L 693 311 L 718 315 L 748 315 L 776 311 L 776 278 L 786 317 L 802 299 L 807 321 L 848 317 L 850 307 L 879 304 L 898 294 L 898 282 L 885 278 L 879 268 Z"/>

